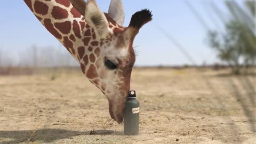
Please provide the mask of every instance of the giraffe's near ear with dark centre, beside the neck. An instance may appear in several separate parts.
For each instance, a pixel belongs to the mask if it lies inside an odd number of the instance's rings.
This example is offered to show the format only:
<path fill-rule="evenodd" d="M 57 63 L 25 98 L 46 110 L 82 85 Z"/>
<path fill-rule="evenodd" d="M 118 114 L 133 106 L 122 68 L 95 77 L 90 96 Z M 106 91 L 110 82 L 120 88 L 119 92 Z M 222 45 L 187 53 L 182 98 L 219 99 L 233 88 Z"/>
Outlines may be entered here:
<path fill-rule="evenodd" d="M 85 21 L 93 27 L 97 34 L 105 36 L 108 32 L 108 20 L 95 0 L 88 0 L 85 7 Z"/>

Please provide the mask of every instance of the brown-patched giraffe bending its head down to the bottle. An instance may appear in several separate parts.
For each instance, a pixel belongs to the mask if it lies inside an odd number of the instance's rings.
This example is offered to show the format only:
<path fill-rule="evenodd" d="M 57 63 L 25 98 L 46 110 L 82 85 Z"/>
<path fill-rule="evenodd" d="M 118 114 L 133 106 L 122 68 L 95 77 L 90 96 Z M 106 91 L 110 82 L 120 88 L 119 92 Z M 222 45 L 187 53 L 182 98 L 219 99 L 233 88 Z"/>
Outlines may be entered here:
<path fill-rule="evenodd" d="M 129 26 L 123 27 L 121 0 L 111 0 L 108 13 L 103 13 L 95 0 L 24 1 L 106 96 L 111 118 L 122 123 L 135 62 L 133 41 L 140 28 L 151 21 L 151 12 L 134 13 Z"/>

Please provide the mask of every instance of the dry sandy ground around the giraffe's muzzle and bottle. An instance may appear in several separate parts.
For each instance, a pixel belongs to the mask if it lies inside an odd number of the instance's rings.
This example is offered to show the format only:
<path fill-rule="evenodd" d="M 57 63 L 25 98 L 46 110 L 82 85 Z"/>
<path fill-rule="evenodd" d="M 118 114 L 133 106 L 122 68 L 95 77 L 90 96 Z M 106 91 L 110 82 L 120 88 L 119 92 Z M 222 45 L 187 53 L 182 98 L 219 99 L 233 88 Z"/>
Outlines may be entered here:
<path fill-rule="evenodd" d="M 134 69 L 136 136 L 80 71 L 0 76 L 0 143 L 256 143 L 255 76 L 226 72 Z"/>

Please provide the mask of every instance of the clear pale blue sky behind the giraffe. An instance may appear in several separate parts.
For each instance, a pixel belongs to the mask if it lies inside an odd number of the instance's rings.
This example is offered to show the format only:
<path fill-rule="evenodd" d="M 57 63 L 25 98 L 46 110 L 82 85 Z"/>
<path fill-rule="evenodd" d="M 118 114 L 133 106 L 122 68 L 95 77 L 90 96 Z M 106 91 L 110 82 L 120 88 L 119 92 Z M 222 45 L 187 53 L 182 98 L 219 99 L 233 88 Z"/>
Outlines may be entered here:
<path fill-rule="evenodd" d="M 206 21 L 211 29 L 216 29 L 213 21 L 219 26 L 223 24 L 215 17 L 210 5 L 211 0 L 188 1 Z M 110 0 L 98 0 L 97 3 L 107 12 Z M 223 1 L 214 0 L 222 11 L 226 11 Z M 195 59 L 197 64 L 218 61 L 215 53 L 207 46 L 206 30 L 196 19 L 195 15 L 183 0 L 123 0 L 125 8 L 125 23 L 129 25 L 131 15 L 141 9 L 149 9 L 153 13 L 153 21 L 145 25 L 135 38 L 134 46 L 139 52 L 135 65 L 184 65 L 191 63 L 179 51 L 165 34 L 177 39 L 186 51 Z M 209 4 L 209 3 L 208 3 Z M 213 17 L 209 17 L 209 13 Z M 2 1 L 0 5 L 1 33 L 0 49 L 4 49 L 13 56 L 33 44 L 38 47 L 55 46 L 60 44 L 35 18 L 26 4 L 19 0 Z M 223 28 L 219 28 L 223 29 Z M 63 48 L 64 49 L 64 48 Z"/>

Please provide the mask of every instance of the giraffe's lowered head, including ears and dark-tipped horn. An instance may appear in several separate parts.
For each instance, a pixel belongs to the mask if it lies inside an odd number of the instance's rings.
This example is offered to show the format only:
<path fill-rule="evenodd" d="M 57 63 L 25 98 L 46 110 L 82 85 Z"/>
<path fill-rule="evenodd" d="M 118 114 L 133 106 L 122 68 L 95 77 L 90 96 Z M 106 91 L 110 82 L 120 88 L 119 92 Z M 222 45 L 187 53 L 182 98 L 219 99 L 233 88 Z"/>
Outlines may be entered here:
<path fill-rule="evenodd" d="M 81 54 L 81 68 L 90 82 L 106 95 L 111 118 L 121 123 L 135 62 L 133 40 L 139 29 L 151 20 L 152 15 L 149 10 L 136 12 L 132 15 L 130 25 L 123 27 L 124 14 L 120 0 L 111 1 L 108 13 L 103 13 L 94 0 L 82 2 L 84 6 L 81 6 L 81 2 L 71 1 L 84 15 L 95 39 L 90 41 L 92 46 L 88 48 L 88 54 L 83 58 Z M 84 41 L 87 41 L 86 37 Z"/>

